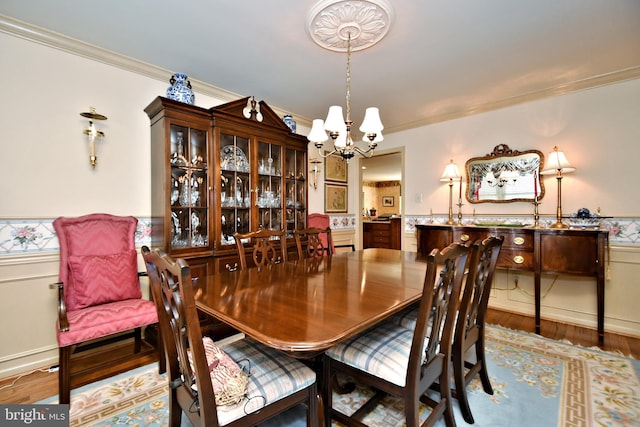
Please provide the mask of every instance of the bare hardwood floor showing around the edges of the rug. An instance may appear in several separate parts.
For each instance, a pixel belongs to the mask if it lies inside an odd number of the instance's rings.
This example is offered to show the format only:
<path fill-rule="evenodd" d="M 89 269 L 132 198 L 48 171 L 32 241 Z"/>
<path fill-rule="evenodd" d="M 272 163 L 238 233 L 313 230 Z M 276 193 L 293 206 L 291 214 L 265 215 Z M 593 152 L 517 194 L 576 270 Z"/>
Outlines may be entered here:
<path fill-rule="evenodd" d="M 533 317 L 506 311 L 490 309 L 487 323 L 500 325 L 505 328 L 533 332 L 535 322 Z M 541 335 L 557 340 L 568 340 L 573 344 L 592 347 L 597 343 L 597 332 L 575 325 L 567 325 L 548 320 L 541 323 Z M 127 344 L 123 344 L 126 346 Z M 617 351 L 625 356 L 640 359 L 640 338 L 605 333 L 603 350 Z M 114 352 L 127 351 L 122 346 L 114 346 Z M 99 356 L 99 357 L 103 357 Z M 146 358 L 137 361 L 136 366 L 152 363 L 154 360 Z M 48 366 L 32 373 L 24 373 L 0 380 L 1 403 L 35 403 L 58 393 L 58 373 L 48 372 Z M 11 385 L 15 381 L 15 384 Z"/>

